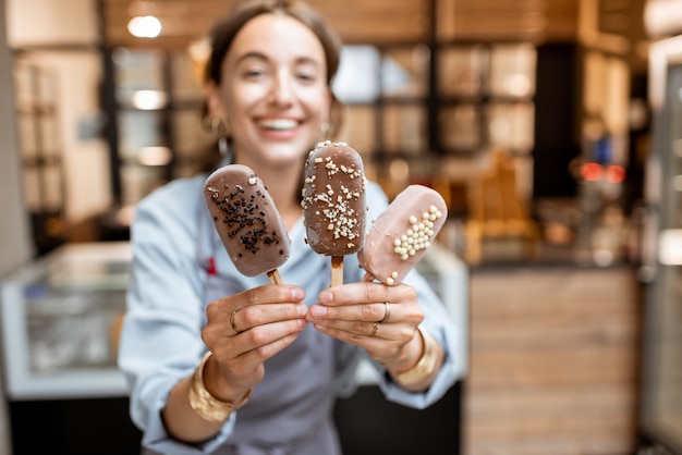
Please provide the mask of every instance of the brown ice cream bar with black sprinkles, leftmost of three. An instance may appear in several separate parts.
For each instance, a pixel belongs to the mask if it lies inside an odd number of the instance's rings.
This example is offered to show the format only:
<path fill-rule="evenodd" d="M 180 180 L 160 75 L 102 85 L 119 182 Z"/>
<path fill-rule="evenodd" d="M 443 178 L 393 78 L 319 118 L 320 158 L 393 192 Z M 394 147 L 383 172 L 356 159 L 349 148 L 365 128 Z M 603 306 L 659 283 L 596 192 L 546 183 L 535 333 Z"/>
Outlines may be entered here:
<path fill-rule="evenodd" d="M 289 259 L 291 242 L 272 197 L 243 164 L 217 169 L 204 184 L 206 206 L 236 269 L 246 276 L 267 273 L 272 284 Z"/>

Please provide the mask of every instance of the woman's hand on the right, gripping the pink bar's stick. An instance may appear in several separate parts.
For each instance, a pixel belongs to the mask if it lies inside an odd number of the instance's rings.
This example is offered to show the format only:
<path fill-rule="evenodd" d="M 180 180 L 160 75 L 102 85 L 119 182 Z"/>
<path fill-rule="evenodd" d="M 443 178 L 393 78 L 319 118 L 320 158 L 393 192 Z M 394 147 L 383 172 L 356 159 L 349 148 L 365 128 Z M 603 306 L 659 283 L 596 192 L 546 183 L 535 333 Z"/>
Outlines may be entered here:
<path fill-rule="evenodd" d="M 419 358 L 422 343 L 412 341 L 424 311 L 412 286 L 358 282 L 329 287 L 318 298 L 307 320 L 320 332 L 364 347 L 392 372 Z"/>

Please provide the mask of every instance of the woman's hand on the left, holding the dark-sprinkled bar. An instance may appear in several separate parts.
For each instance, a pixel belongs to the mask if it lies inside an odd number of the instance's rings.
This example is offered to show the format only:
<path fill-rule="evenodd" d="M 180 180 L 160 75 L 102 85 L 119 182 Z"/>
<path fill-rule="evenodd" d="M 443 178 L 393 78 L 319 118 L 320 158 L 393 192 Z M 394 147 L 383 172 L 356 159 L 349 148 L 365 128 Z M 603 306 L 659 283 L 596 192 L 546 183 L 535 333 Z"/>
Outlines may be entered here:
<path fill-rule="evenodd" d="M 264 376 L 265 360 L 289 346 L 305 328 L 302 287 L 263 285 L 210 303 L 202 339 L 212 353 L 204 383 L 217 399 L 236 403 Z"/>

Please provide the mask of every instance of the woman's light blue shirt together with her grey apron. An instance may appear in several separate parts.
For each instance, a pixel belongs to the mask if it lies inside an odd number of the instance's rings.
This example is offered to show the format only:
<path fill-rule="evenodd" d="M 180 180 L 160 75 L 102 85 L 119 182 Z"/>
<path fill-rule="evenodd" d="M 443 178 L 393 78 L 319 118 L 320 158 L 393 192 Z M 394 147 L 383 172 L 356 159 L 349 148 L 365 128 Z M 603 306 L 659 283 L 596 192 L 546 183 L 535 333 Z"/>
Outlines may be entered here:
<path fill-rule="evenodd" d="M 162 454 L 340 454 L 333 404 L 337 396 L 352 394 L 355 369 L 367 355 L 312 325 L 266 361 L 265 378 L 248 403 L 232 413 L 215 438 L 187 445 L 173 440 L 163 427 L 161 409 L 170 390 L 194 371 L 206 352 L 200 331 L 207 304 L 269 283 L 266 275 L 244 276 L 232 265 L 204 201 L 205 177 L 175 180 L 157 189 L 138 204 L 132 225 L 132 275 L 119 366 L 130 383 L 131 417 L 144 431 L 143 445 Z M 387 204 L 379 186 L 368 183 L 367 219 L 376 219 Z M 303 217 L 289 235 L 291 256 L 279 271 L 285 283 L 306 290 L 309 306 L 329 286 L 330 258 L 306 245 Z M 345 283 L 362 279 L 355 255 L 344 258 L 343 274 Z M 458 332 L 426 280 L 412 271 L 404 281 L 417 291 L 426 315 L 423 325 L 443 346 L 444 365 L 424 393 L 401 389 L 380 365 L 372 365 L 389 401 L 424 408 L 458 379 L 460 360 L 453 358 Z"/>

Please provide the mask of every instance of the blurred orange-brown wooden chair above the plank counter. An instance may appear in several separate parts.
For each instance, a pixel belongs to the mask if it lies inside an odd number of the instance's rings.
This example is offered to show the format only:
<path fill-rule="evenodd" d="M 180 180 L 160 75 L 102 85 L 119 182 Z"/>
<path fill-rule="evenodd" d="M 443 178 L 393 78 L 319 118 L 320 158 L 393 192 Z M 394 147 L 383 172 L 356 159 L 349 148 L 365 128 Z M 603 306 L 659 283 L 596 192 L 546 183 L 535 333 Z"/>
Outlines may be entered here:
<path fill-rule="evenodd" d="M 465 260 L 483 260 L 487 239 L 519 238 L 526 258 L 536 259 L 539 229 L 516 190 L 516 167 L 502 150 L 494 150 L 491 167 L 475 177 L 468 188 L 468 218 L 464 226 Z"/>

